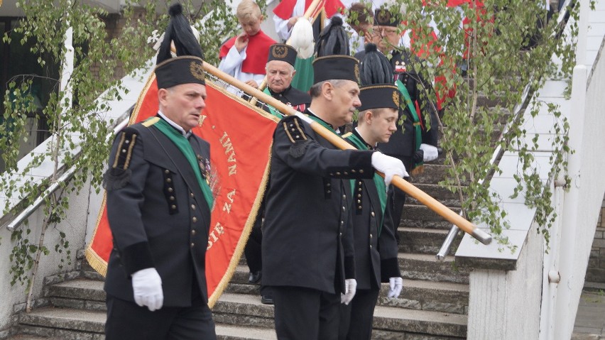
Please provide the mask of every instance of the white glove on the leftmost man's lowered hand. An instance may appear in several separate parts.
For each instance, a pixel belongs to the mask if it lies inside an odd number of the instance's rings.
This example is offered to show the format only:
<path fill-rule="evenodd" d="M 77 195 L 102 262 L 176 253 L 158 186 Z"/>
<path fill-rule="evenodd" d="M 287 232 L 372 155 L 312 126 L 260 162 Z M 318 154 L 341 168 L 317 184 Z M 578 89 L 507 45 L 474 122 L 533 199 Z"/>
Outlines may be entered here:
<path fill-rule="evenodd" d="M 162 279 L 156 268 L 145 268 L 134 273 L 132 275 L 132 290 L 134 292 L 134 302 L 137 305 L 147 306 L 151 312 L 162 308 L 164 303 Z"/>

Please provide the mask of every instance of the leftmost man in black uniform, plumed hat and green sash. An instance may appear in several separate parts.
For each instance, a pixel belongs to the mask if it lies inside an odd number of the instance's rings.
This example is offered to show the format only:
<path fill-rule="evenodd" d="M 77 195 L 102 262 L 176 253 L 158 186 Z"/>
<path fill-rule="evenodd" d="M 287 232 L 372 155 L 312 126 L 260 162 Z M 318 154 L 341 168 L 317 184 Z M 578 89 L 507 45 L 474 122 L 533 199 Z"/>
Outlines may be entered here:
<path fill-rule="evenodd" d="M 158 53 L 157 116 L 116 136 L 104 176 L 114 238 L 104 288 L 108 340 L 216 339 L 205 278 L 209 144 L 191 132 L 205 107 L 205 77 L 181 11 L 170 8 Z"/>

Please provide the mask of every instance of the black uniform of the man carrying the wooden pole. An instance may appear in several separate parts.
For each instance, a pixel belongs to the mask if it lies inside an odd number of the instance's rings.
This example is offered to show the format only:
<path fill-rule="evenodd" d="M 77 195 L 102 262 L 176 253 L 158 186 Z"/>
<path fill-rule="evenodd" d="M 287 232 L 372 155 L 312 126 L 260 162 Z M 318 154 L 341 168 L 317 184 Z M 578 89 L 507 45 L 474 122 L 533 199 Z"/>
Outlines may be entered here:
<path fill-rule="evenodd" d="M 334 323 L 325 327 L 338 329 L 344 279 L 355 278 L 349 225 L 351 188 L 343 179 L 371 178 L 374 169 L 371 152 L 334 148 L 293 116 L 282 119 L 273 135 L 263 226 L 263 285 L 273 290 L 276 328 L 282 318 L 289 317 L 288 308 L 319 308 L 297 302 L 283 308 L 279 299 L 284 291 L 301 297 L 298 302 L 305 301 L 305 294 L 319 291 L 322 299 L 335 304 L 336 314 L 327 316 Z M 309 331 L 305 321 L 300 320 L 301 336 L 295 339 L 317 337 L 305 338 Z"/>

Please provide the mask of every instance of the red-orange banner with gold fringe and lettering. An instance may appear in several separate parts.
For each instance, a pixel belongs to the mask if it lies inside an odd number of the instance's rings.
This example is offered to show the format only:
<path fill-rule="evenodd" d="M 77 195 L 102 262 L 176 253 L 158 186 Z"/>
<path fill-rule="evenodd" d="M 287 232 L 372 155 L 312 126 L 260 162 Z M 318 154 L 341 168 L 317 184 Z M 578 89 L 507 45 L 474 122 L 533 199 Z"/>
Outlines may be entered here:
<path fill-rule="evenodd" d="M 206 108 L 193 132 L 210 143 L 214 207 L 206 251 L 208 305 L 213 307 L 239 263 L 268 179 L 276 119 L 207 81 Z M 158 87 L 152 75 L 141 92 L 129 124 L 155 116 Z M 259 190 L 262 189 L 262 190 Z M 86 258 L 107 273 L 112 248 L 105 199 Z"/>

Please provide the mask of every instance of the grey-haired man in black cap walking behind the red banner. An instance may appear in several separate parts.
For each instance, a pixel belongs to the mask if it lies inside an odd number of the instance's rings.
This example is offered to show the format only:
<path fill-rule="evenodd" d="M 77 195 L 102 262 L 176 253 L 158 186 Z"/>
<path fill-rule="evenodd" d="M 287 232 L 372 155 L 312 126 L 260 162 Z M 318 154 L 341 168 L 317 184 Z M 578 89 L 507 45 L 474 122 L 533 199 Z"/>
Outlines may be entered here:
<path fill-rule="evenodd" d="M 278 99 L 280 102 L 293 107 L 293 109 L 304 112 L 311 104 L 309 94 L 295 89 L 290 84 L 296 74 L 294 63 L 296 61 L 296 50 L 286 44 L 273 44 L 269 48 L 267 61 L 267 87 L 264 89 L 266 94 Z M 283 115 L 272 106 L 264 105 L 263 109 L 281 118 Z M 263 243 L 263 234 L 261 224 L 264 215 L 265 201 L 261 205 L 261 214 L 258 214 L 254 226 L 250 232 L 248 243 L 244 248 L 246 254 L 246 263 L 250 269 L 249 282 L 259 283 L 262 277 L 263 261 L 261 256 L 261 244 Z M 261 302 L 264 304 L 273 304 L 271 290 L 267 287 L 261 287 Z"/>

